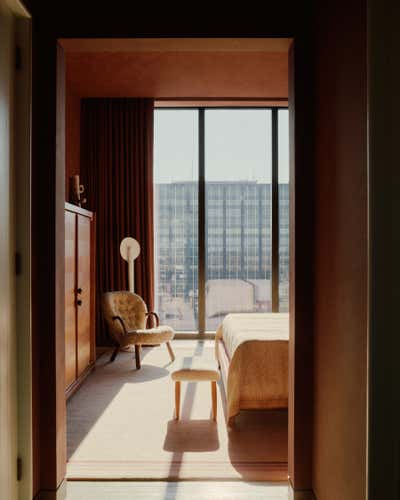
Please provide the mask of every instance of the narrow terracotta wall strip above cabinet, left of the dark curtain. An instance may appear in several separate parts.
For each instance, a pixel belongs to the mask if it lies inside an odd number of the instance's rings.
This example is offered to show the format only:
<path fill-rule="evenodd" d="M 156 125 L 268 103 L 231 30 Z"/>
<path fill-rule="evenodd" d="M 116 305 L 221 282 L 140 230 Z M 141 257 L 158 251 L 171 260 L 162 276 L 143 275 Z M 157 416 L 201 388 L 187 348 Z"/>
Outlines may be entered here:
<path fill-rule="evenodd" d="M 65 196 L 68 200 L 69 177 L 80 172 L 81 99 L 67 83 L 65 110 Z"/>

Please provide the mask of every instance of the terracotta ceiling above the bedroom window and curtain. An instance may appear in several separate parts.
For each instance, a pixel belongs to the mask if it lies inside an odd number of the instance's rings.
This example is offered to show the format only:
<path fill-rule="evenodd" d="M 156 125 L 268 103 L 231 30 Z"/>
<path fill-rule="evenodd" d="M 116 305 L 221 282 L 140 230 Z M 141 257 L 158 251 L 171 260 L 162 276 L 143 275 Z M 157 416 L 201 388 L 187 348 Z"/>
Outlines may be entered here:
<path fill-rule="evenodd" d="M 62 39 L 79 97 L 287 99 L 289 39 Z"/>

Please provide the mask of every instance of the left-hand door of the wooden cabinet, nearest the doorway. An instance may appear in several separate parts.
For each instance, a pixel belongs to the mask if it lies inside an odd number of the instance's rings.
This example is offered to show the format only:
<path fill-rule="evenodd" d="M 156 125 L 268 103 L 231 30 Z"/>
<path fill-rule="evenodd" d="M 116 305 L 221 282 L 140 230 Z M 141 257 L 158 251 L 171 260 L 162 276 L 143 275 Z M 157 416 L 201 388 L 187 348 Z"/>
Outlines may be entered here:
<path fill-rule="evenodd" d="M 65 212 L 65 386 L 76 379 L 76 215 Z"/>

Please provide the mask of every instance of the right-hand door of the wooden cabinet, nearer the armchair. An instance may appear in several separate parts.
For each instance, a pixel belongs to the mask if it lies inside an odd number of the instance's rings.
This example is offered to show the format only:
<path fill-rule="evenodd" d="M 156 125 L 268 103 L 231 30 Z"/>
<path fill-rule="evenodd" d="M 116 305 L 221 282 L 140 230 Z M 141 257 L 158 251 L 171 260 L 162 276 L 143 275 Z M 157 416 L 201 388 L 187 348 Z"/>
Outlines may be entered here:
<path fill-rule="evenodd" d="M 90 363 L 90 232 L 91 221 L 77 215 L 77 364 L 78 377 Z"/>

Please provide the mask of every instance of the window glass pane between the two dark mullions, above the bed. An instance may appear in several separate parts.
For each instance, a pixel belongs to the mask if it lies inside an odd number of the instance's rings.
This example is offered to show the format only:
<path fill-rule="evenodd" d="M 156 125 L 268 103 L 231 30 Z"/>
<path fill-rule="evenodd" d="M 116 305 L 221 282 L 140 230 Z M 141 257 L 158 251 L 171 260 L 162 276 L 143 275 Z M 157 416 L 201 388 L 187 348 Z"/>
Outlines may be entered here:
<path fill-rule="evenodd" d="M 205 112 L 206 329 L 271 310 L 271 111 Z"/>

